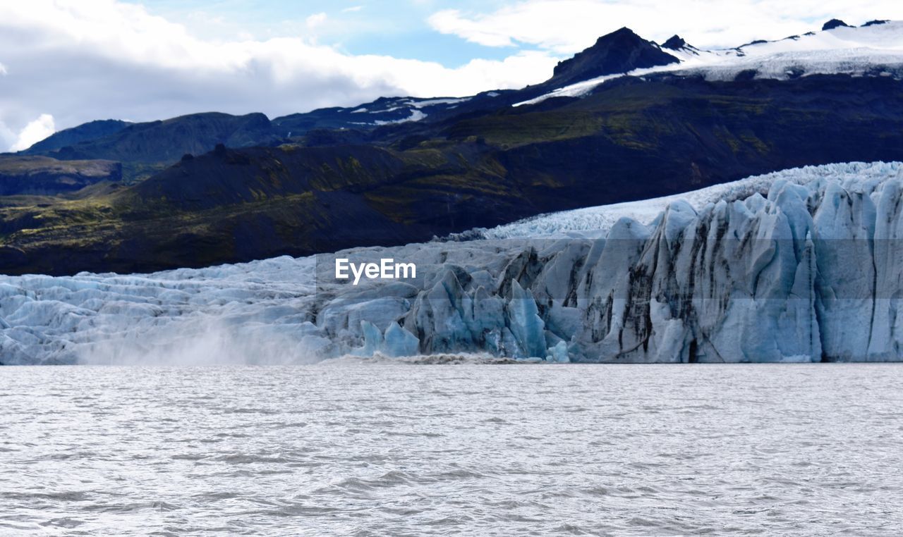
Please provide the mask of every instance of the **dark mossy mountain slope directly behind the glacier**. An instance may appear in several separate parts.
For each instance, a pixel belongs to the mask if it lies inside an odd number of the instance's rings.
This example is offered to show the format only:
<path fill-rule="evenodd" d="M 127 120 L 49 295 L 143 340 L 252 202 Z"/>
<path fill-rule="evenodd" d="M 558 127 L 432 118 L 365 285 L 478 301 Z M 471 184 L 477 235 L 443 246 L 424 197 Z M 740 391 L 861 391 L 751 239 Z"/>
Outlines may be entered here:
<path fill-rule="evenodd" d="M 102 198 L 0 209 L 4 244 L 23 254 L 0 270 L 144 272 L 397 245 L 787 167 L 903 160 L 903 92 L 884 77 L 624 78 L 428 126 L 405 127 L 421 129 L 416 144 L 402 130 L 386 146 L 222 147 Z"/>

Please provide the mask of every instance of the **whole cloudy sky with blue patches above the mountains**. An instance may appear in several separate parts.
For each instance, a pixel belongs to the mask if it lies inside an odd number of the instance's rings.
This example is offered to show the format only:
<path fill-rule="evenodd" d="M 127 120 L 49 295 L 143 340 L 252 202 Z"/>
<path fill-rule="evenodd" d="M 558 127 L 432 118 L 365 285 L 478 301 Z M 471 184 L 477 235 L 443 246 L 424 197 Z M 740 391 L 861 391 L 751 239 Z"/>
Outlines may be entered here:
<path fill-rule="evenodd" d="M 628 26 L 700 48 L 781 39 L 898 0 L 0 1 L 0 151 L 94 119 L 283 116 L 520 88 Z"/>

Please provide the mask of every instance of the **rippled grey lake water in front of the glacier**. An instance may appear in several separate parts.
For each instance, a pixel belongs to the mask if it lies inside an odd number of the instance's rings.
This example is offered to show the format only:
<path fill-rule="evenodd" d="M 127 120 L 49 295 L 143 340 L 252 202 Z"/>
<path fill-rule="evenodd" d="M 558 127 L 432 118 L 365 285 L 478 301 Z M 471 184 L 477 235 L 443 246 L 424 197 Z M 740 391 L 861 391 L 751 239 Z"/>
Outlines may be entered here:
<path fill-rule="evenodd" d="M 0 368 L 0 535 L 900 534 L 903 366 Z"/>

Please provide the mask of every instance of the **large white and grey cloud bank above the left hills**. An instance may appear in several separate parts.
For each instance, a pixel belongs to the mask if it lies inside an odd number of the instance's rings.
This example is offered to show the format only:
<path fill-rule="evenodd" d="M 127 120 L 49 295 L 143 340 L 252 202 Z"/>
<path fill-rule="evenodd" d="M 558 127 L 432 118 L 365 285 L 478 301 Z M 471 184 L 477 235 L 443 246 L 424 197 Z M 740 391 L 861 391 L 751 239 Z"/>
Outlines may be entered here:
<path fill-rule="evenodd" d="M 453 97 L 521 87 L 546 79 L 559 60 L 547 52 L 512 51 L 505 60 L 448 69 L 350 55 L 303 37 L 249 37 L 202 39 L 141 5 L 116 0 L 0 2 L 0 51 L 8 68 L 0 122 L 21 133 L 42 114 L 59 128 L 210 110 L 274 117 L 382 96 Z M 19 146 L 19 138 L 8 143 Z"/>

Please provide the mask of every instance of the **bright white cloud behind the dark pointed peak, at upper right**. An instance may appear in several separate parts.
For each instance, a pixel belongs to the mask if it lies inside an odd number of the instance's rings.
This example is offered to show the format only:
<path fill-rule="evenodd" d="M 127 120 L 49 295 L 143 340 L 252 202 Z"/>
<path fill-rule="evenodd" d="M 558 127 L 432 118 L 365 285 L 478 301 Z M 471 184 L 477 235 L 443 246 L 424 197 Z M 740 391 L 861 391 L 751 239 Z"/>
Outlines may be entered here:
<path fill-rule="evenodd" d="M 898 0 L 523 0 L 489 13 L 444 10 L 433 29 L 491 47 L 528 43 L 573 54 L 602 34 L 628 26 L 658 42 L 675 33 L 697 46 L 736 46 L 819 30 L 831 18 L 848 23 L 903 19 Z"/>

